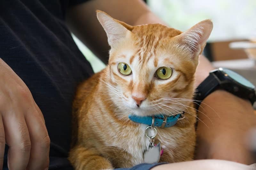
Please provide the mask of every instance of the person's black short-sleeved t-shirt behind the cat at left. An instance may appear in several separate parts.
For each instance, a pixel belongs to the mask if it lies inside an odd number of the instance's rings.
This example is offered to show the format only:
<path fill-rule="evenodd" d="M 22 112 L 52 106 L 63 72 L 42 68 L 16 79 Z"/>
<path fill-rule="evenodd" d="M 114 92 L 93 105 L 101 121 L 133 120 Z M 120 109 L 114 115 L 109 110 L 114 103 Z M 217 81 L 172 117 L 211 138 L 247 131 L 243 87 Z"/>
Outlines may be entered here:
<path fill-rule="evenodd" d="M 72 100 L 77 84 L 93 74 L 65 24 L 66 10 L 85 1 L 0 1 L 0 57 L 43 112 L 51 139 L 50 169 L 68 167 Z"/>

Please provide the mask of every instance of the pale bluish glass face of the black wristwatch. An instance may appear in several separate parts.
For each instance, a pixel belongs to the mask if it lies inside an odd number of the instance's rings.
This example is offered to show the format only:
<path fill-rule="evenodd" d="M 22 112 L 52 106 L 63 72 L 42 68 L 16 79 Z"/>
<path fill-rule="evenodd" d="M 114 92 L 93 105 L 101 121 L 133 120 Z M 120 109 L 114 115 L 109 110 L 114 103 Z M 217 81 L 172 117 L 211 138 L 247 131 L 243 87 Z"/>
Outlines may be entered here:
<path fill-rule="evenodd" d="M 237 74 L 234 71 L 231 71 L 229 69 L 220 68 L 220 71 L 224 73 L 225 76 L 229 76 L 234 81 L 237 81 L 238 83 L 244 85 L 245 87 L 255 89 L 255 86 L 248 80 L 246 80 L 243 76 Z"/>

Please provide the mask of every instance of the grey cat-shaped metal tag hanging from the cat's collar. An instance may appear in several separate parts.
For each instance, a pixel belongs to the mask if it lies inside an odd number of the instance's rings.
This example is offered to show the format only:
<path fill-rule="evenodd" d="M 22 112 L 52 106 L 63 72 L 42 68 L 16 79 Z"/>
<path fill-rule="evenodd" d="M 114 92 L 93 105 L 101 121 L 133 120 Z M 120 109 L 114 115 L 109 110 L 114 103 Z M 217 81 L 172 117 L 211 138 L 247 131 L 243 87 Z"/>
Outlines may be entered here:
<path fill-rule="evenodd" d="M 154 142 L 150 142 L 148 150 L 143 153 L 143 159 L 145 163 L 153 164 L 157 163 L 160 160 L 161 156 L 161 144 L 157 145 Z"/>

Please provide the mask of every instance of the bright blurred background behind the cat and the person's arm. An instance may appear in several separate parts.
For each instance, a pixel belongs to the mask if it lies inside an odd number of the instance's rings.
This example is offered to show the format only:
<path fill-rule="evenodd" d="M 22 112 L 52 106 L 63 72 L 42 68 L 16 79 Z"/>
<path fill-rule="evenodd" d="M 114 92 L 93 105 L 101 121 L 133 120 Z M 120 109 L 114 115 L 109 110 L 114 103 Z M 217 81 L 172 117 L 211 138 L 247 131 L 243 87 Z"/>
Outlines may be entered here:
<path fill-rule="evenodd" d="M 204 19 L 213 30 L 204 55 L 215 67 L 235 70 L 256 85 L 256 0 L 145 0 L 170 27 L 185 31 Z M 105 65 L 76 37 L 94 72 Z M 255 106 L 256 108 L 256 106 Z"/>

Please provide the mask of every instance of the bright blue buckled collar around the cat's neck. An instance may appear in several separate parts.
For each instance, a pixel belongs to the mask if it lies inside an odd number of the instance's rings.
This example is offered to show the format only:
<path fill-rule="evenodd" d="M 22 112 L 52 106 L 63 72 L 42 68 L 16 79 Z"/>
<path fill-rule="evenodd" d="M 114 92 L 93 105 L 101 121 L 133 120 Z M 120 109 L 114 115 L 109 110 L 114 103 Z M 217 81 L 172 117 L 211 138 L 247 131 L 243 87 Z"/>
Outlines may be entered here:
<path fill-rule="evenodd" d="M 164 124 L 164 119 L 165 119 L 164 116 L 157 115 L 157 116 L 155 116 L 154 126 L 161 127 L 163 124 L 164 127 L 171 127 L 177 123 L 180 116 L 181 116 L 181 114 L 177 114 L 174 116 L 168 116 L 168 117 L 166 117 L 166 123 Z M 141 124 L 147 124 L 147 125 L 152 124 L 152 116 L 140 117 L 140 116 L 136 116 L 136 115 L 129 115 L 129 119 L 132 120 L 133 122 L 137 122 L 137 123 L 141 123 Z"/>

